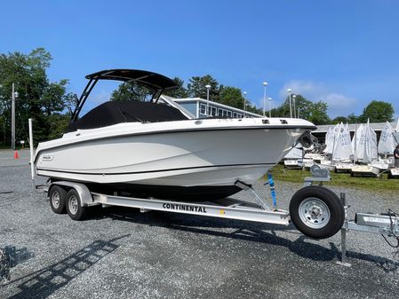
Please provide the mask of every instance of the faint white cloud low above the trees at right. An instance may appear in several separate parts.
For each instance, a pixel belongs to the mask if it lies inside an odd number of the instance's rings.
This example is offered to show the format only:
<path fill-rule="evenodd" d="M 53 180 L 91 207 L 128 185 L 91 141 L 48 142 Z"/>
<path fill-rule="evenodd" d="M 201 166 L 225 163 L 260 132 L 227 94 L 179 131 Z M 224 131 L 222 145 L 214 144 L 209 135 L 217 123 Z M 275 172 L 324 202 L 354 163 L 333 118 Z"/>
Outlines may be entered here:
<path fill-rule="evenodd" d="M 328 114 L 331 117 L 338 115 L 347 116 L 354 111 L 357 104 L 356 98 L 350 98 L 346 95 L 331 90 L 323 83 L 314 83 L 312 81 L 291 81 L 285 83 L 283 89 L 280 90 L 280 97 L 286 98 L 288 95 L 287 89 L 291 89 L 292 93 L 301 94 L 303 97 L 311 101 L 323 100 L 328 104 Z"/>

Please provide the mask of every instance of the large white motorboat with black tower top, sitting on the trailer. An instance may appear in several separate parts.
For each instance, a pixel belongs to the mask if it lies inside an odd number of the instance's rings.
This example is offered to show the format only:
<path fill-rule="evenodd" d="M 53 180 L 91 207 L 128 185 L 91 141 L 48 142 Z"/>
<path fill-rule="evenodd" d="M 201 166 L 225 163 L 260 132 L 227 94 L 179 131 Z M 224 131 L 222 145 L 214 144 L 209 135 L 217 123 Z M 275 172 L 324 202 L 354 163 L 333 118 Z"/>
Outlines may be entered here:
<path fill-rule="evenodd" d="M 87 84 L 62 138 L 36 149 L 38 176 L 82 182 L 92 191 L 137 196 L 222 198 L 252 185 L 283 159 L 311 122 L 284 118 L 189 119 L 177 106 L 159 104 L 177 88 L 164 75 L 107 70 Z M 93 86 L 103 79 L 135 82 L 154 90 L 150 102 L 112 101 L 78 118 Z"/>

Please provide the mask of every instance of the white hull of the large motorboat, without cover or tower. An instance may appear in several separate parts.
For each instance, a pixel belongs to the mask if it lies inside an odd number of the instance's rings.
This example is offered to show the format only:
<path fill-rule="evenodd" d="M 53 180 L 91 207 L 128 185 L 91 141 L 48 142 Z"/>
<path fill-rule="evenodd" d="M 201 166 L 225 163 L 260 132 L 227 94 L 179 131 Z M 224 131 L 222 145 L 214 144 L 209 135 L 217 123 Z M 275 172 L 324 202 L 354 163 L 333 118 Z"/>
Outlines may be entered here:
<path fill-rule="evenodd" d="M 82 140 L 39 146 L 36 172 L 53 180 L 120 186 L 158 198 L 222 197 L 240 191 L 237 180 L 256 182 L 304 131 L 241 125 L 228 130 L 110 132 L 99 138 L 90 130 Z"/>

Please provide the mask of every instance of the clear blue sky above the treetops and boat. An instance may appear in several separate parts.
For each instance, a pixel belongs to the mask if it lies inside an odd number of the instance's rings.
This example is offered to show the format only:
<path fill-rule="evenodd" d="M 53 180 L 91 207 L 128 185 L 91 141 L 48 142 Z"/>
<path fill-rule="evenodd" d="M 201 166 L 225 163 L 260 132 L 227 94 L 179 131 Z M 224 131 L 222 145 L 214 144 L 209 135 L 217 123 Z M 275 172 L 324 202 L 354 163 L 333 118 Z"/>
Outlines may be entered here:
<path fill-rule="evenodd" d="M 399 116 L 399 1 L 7 1 L 0 53 L 52 54 L 51 81 L 80 94 L 84 76 L 138 68 L 188 83 L 212 75 L 272 107 L 287 89 L 327 102 L 331 117 L 362 114 L 371 100 Z M 105 90 L 95 90 L 102 99 Z"/>

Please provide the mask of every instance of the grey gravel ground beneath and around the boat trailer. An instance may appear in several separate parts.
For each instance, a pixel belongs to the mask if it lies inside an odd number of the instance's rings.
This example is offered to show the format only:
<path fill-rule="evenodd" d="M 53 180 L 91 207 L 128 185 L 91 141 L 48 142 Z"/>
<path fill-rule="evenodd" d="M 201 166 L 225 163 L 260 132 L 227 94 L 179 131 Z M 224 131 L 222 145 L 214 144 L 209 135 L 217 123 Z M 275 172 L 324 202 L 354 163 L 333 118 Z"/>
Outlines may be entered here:
<path fill-rule="evenodd" d="M 299 187 L 276 183 L 282 207 Z M 347 193 L 350 216 L 399 209 L 397 193 L 332 190 Z M 12 268 L 0 298 L 397 297 L 397 248 L 379 235 L 349 232 L 348 268 L 335 263 L 339 243 L 339 234 L 309 240 L 292 225 L 137 209 L 98 209 L 72 221 L 32 192 L 28 151 L 16 161 L 0 151 L 0 248 L 35 254 Z"/>

